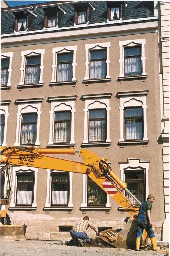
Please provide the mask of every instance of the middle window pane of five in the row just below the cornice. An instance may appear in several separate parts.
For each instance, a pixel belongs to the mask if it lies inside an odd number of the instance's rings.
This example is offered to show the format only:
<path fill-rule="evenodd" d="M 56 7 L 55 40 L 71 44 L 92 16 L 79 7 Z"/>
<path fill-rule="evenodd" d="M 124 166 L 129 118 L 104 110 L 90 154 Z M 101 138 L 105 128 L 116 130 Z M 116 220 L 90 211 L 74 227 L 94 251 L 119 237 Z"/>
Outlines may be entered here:
<path fill-rule="evenodd" d="M 71 81 L 73 53 L 57 54 L 57 81 Z"/>

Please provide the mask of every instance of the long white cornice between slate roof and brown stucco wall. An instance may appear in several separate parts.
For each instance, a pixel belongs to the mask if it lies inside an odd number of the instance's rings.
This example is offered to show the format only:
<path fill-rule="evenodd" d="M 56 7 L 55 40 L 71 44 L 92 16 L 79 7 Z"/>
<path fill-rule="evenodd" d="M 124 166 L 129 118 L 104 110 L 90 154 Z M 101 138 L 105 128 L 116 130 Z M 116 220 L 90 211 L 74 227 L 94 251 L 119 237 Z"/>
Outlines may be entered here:
<path fill-rule="evenodd" d="M 154 19 L 153 19 L 154 18 Z M 56 30 L 38 30 L 38 31 L 27 31 L 26 33 L 12 33 L 1 35 L 1 46 L 17 46 L 18 45 L 29 45 L 37 43 L 48 43 L 48 42 L 62 42 L 72 41 L 83 38 L 95 38 L 95 37 L 110 37 L 123 34 L 132 33 L 149 33 L 157 31 L 157 20 L 156 17 L 148 18 L 147 20 L 134 19 L 134 20 L 123 20 L 117 23 L 98 23 L 85 25 L 83 29 L 79 26 L 56 28 Z M 142 21 L 142 22 L 140 22 Z M 124 24 L 126 22 L 126 24 Z M 131 22 L 133 26 L 129 26 Z M 113 24 L 114 26 L 109 26 Z M 121 26 L 120 26 L 121 25 Z M 36 36 L 35 36 L 36 35 Z"/>

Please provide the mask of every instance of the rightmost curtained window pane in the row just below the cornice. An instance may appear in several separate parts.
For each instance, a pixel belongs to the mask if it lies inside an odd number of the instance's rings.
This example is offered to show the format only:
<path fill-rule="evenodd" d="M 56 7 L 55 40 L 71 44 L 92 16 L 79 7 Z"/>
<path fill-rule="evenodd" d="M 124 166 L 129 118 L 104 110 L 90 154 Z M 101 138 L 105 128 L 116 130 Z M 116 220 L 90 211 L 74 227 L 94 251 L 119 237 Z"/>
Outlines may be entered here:
<path fill-rule="evenodd" d="M 141 75 L 141 47 L 124 48 L 125 76 Z"/>

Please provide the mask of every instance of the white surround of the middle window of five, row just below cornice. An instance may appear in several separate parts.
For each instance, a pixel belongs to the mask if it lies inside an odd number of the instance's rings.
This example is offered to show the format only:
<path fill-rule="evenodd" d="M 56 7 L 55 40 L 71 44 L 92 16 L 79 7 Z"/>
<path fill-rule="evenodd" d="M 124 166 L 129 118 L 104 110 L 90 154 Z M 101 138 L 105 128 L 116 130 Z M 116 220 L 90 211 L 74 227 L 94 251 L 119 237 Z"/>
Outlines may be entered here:
<path fill-rule="evenodd" d="M 52 52 L 53 52 L 53 65 L 52 67 L 52 80 L 51 83 L 68 83 L 70 81 L 56 81 L 57 79 L 57 54 L 58 53 L 68 53 L 70 51 L 73 52 L 73 69 L 72 69 L 72 82 L 76 82 L 76 50 L 77 50 L 77 46 L 73 45 L 73 46 L 65 46 L 65 47 L 55 47 L 53 48 Z"/>

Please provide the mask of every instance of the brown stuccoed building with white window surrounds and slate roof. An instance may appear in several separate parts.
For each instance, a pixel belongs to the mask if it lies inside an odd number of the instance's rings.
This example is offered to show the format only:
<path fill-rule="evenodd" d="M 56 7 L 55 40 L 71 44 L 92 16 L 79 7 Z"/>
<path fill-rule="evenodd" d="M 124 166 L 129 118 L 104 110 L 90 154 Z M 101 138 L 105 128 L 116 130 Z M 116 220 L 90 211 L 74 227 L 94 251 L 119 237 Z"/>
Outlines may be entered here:
<path fill-rule="evenodd" d="M 1 10 L 1 26 L 1 145 L 74 146 L 107 157 L 139 201 L 156 195 L 152 220 L 161 240 L 166 212 L 154 2 L 9 7 Z M 78 155 L 61 158 L 81 162 Z M 99 230 L 125 225 L 128 213 L 85 174 L 13 166 L 12 179 L 7 209 L 12 224 L 25 222 L 27 238 L 69 237 L 85 215 Z"/>

